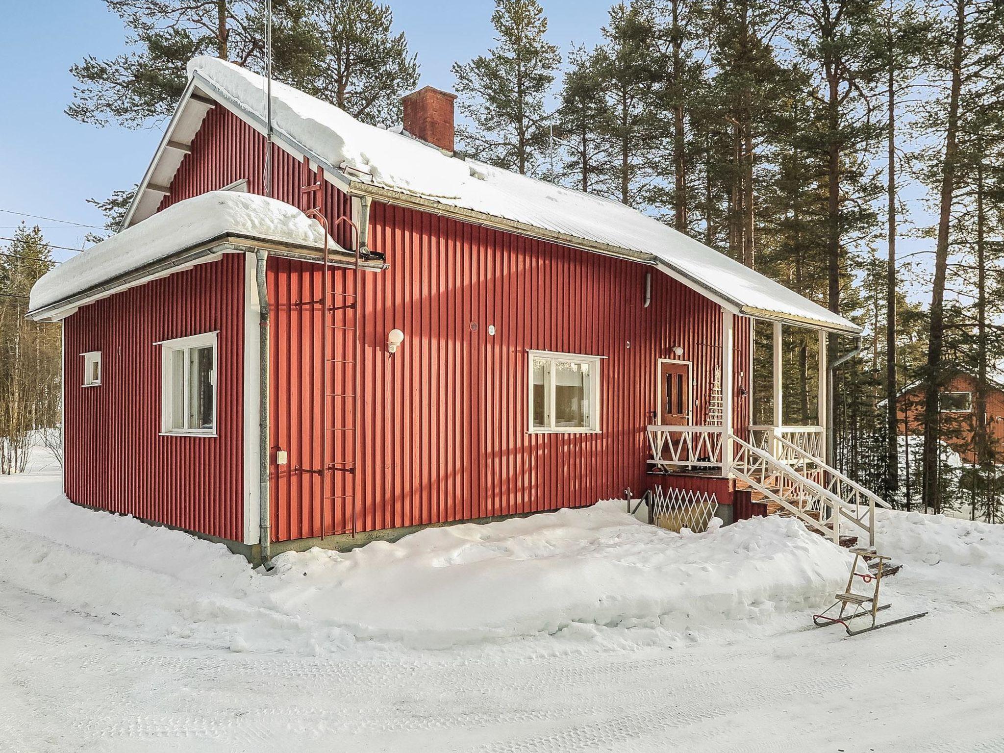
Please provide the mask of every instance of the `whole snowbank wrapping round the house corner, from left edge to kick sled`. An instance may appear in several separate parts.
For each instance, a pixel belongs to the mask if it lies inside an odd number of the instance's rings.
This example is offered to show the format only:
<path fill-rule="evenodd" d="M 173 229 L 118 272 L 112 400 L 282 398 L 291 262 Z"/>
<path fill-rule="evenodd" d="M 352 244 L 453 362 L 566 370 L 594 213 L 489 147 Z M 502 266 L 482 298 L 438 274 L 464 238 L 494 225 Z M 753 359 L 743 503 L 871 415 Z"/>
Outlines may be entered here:
<path fill-rule="evenodd" d="M 359 639 L 445 648 L 603 628 L 671 640 L 817 606 L 846 577 L 847 553 L 793 520 L 681 535 L 615 503 L 285 553 L 264 575 L 220 544 L 42 502 L 55 484 L 21 481 L 0 495 L 5 579 L 139 635 L 235 651 L 315 653 Z"/>

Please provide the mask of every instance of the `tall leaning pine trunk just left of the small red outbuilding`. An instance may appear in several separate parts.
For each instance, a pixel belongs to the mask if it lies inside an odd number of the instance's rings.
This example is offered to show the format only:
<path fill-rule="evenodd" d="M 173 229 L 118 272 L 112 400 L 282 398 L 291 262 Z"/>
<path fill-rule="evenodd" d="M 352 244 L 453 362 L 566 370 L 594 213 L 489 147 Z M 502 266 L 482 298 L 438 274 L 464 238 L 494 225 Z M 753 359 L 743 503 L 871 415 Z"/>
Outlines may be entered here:
<path fill-rule="evenodd" d="M 927 374 L 924 386 L 924 509 L 941 512 L 939 483 L 939 407 L 938 388 L 942 351 L 945 345 L 945 282 L 948 276 L 949 230 L 952 222 L 952 199 L 955 192 L 955 168 L 959 138 L 959 97 L 962 90 L 962 51 L 966 35 L 966 0 L 957 0 L 955 38 L 952 46 L 952 86 L 949 93 L 948 121 L 945 133 L 945 159 L 942 163 L 941 196 L 938 212 L 938 243 L 935 247 L 935 278 L 931 292 L 931 322 L 928 337 Z"/>

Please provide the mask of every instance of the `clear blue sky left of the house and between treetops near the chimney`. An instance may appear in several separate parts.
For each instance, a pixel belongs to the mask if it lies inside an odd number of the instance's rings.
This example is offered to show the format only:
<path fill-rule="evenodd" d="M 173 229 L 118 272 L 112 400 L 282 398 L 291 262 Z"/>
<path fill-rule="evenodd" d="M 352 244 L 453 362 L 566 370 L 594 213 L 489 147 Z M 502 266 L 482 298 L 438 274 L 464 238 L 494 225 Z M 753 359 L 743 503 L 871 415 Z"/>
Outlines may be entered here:
<path fill-rule="evenodd" d="M 452 88 L 450 65 L 491 45 L 492 0 L 392 1 L 395 26 L 418 53 L 422 85 Z M 548 0 L 552 42 L 599 39 L 608 0 Z M 146 131 L 97 129 L 63 113 L 74 79 L 69 66 L 86 54 L 110 57 L 124 48 L 117 16 L 100 0 L 5 3 L 0 28 L 0 209 L 101 225 L 100 212 L 85 202 L 140 180 L 160 139 Z M 0 212 L 0 237 L 20 218 Z M 87 232 L 37 220 L 46 238 L 79 246 Z M 0 241 L 3 243 L 3 241 Z M 56 258 L 69 255 L 57 252 Z"/>

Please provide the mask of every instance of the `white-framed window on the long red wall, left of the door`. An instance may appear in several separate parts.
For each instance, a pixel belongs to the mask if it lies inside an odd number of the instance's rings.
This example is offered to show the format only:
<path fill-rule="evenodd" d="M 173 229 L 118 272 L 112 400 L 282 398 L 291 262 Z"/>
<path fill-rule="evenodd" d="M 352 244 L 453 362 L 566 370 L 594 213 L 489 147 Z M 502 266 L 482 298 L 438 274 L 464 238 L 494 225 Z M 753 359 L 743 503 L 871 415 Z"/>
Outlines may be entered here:
<path fill-rule="evenodd" d="M 599 431 L 599 364 L 605 356 L 528 350 L 531 434 Z"/>

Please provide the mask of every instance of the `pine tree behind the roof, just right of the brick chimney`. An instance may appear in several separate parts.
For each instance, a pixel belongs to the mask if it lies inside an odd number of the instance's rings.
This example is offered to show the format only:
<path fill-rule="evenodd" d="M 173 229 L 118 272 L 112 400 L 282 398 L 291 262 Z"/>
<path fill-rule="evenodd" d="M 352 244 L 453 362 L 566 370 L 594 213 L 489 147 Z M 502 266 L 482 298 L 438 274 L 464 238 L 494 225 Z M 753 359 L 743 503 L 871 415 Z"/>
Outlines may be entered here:
<path fill-rule="evenodd" d="M 471 119 L 458 136 L 464 152 L 522 174 L 537 169 L 548 140 L 545 97 L 561 56 L 537 0 L 496 0 L 498 44 L 487 55 L 454 63 L 460 111 Z"/>

